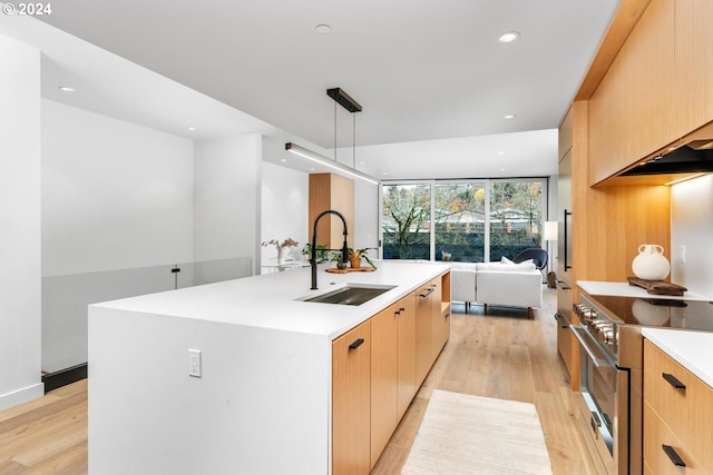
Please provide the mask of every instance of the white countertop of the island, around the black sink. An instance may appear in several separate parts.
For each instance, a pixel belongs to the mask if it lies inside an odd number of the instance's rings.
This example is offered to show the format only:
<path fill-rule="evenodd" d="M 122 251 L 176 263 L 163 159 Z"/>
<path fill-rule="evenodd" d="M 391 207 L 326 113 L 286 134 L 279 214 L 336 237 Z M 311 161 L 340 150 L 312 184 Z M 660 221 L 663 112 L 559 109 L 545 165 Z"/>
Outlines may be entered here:
<path fill-rule="evenodd" d="M 355 327 L 421 285 L 449 270 L 436 263 L 374 261 L 372 273 L 331 274 L 321 265 L 319 290 L 310 290 L 309 267 L 226 280 L 158 294 L 95 304 L 104 308 L 231 323 L 330 338 Z M 359 306 L 301 301 L 346 284 L 390 285 L 395 288 Z"/>

